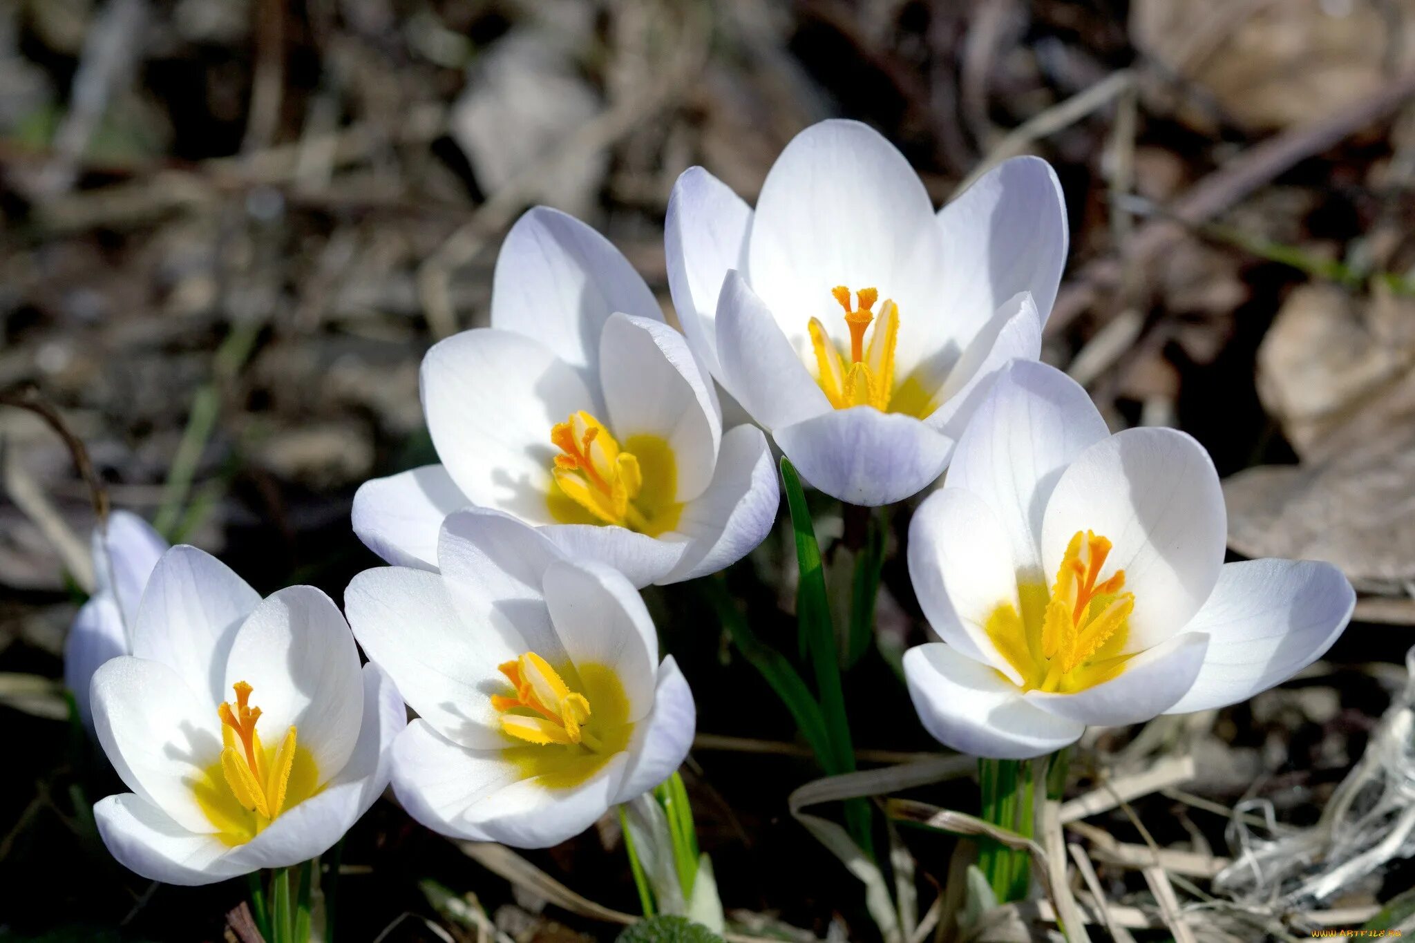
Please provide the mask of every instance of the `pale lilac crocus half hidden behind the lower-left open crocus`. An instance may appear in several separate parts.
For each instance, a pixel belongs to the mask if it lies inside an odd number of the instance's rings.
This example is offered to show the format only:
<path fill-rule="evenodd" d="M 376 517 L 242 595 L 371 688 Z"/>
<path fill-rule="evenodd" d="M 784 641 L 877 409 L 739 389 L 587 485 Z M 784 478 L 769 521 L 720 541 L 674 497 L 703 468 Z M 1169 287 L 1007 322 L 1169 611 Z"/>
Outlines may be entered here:
<path fill-rule="evenodd" d="M 137 602 L 166 551 L 163 536 L 127 510 L 115 510 L 93 530 L 93 595 L 74 616 L 64 640 L 64 683 L 89 730 L 93 730 L 89 681 L 100 664 L 133 650 Z"/>

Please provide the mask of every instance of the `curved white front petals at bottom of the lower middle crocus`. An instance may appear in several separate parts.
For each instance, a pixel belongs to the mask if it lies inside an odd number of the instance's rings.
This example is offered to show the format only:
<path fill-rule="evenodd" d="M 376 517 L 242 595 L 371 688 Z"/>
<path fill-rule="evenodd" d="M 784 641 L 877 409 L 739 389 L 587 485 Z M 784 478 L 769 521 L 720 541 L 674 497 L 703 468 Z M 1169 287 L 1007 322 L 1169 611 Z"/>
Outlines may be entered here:
<path fill-rule="evenodd" d="M 603 816 L 627 756 L 613 756 L 584 783 L 556 789 L 526 779 L 501 751 L 466 749 L 413 721 L 393 744 L 393 792 L 433 831 L 515 848 L 548 848 Z"/>

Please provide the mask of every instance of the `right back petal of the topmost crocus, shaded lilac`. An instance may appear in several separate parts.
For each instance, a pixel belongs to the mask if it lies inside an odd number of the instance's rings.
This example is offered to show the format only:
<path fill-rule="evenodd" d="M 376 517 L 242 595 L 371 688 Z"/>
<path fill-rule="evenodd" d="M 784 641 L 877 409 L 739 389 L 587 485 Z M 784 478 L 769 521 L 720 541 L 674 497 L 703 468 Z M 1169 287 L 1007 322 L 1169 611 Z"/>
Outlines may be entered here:
<path fill-rule="evenodd" d="M 948 320 L 935 342 L 966 338 L 998 305 L 1030 291 L 1046 324 L 1067 254 L 1065 201 L 1051 167 L 1037 157 L 1015 157 L 988 171 L 958 199 L 938 211 L 944 240 L 941 297 Z"/>

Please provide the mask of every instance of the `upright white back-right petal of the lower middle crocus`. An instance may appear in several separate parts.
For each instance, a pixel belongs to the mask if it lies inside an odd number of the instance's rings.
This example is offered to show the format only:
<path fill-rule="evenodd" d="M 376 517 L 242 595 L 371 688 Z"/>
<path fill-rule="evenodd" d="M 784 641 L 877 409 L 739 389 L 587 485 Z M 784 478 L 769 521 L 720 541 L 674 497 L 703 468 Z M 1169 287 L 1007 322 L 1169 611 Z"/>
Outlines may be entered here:
<path fill-rule="evenodd" d="M 570 662 L 577 669 L 610 669 L 624 686 L 628 720 L 648 714 L 654 705 L 658 632 L 628 580 L 603 566 L 555 563 L 545 571 L 545 602 Z"/>

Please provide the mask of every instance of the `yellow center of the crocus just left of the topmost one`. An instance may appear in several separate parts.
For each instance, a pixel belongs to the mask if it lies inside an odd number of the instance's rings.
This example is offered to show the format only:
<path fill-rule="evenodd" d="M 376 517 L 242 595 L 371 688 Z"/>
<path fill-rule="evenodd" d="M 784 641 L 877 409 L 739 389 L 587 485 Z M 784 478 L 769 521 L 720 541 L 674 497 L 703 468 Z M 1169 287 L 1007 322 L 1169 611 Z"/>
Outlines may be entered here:
<path fill-rule="evenodd" d="M 633 435 L 620 447 L 604 423 L 580 410 L 550 428 L 550 444 L 560 450 L 552 468 L 556 520 L 618 525 L 649 537 L 678 526 L 678 465 L 661 437 Z"/>

